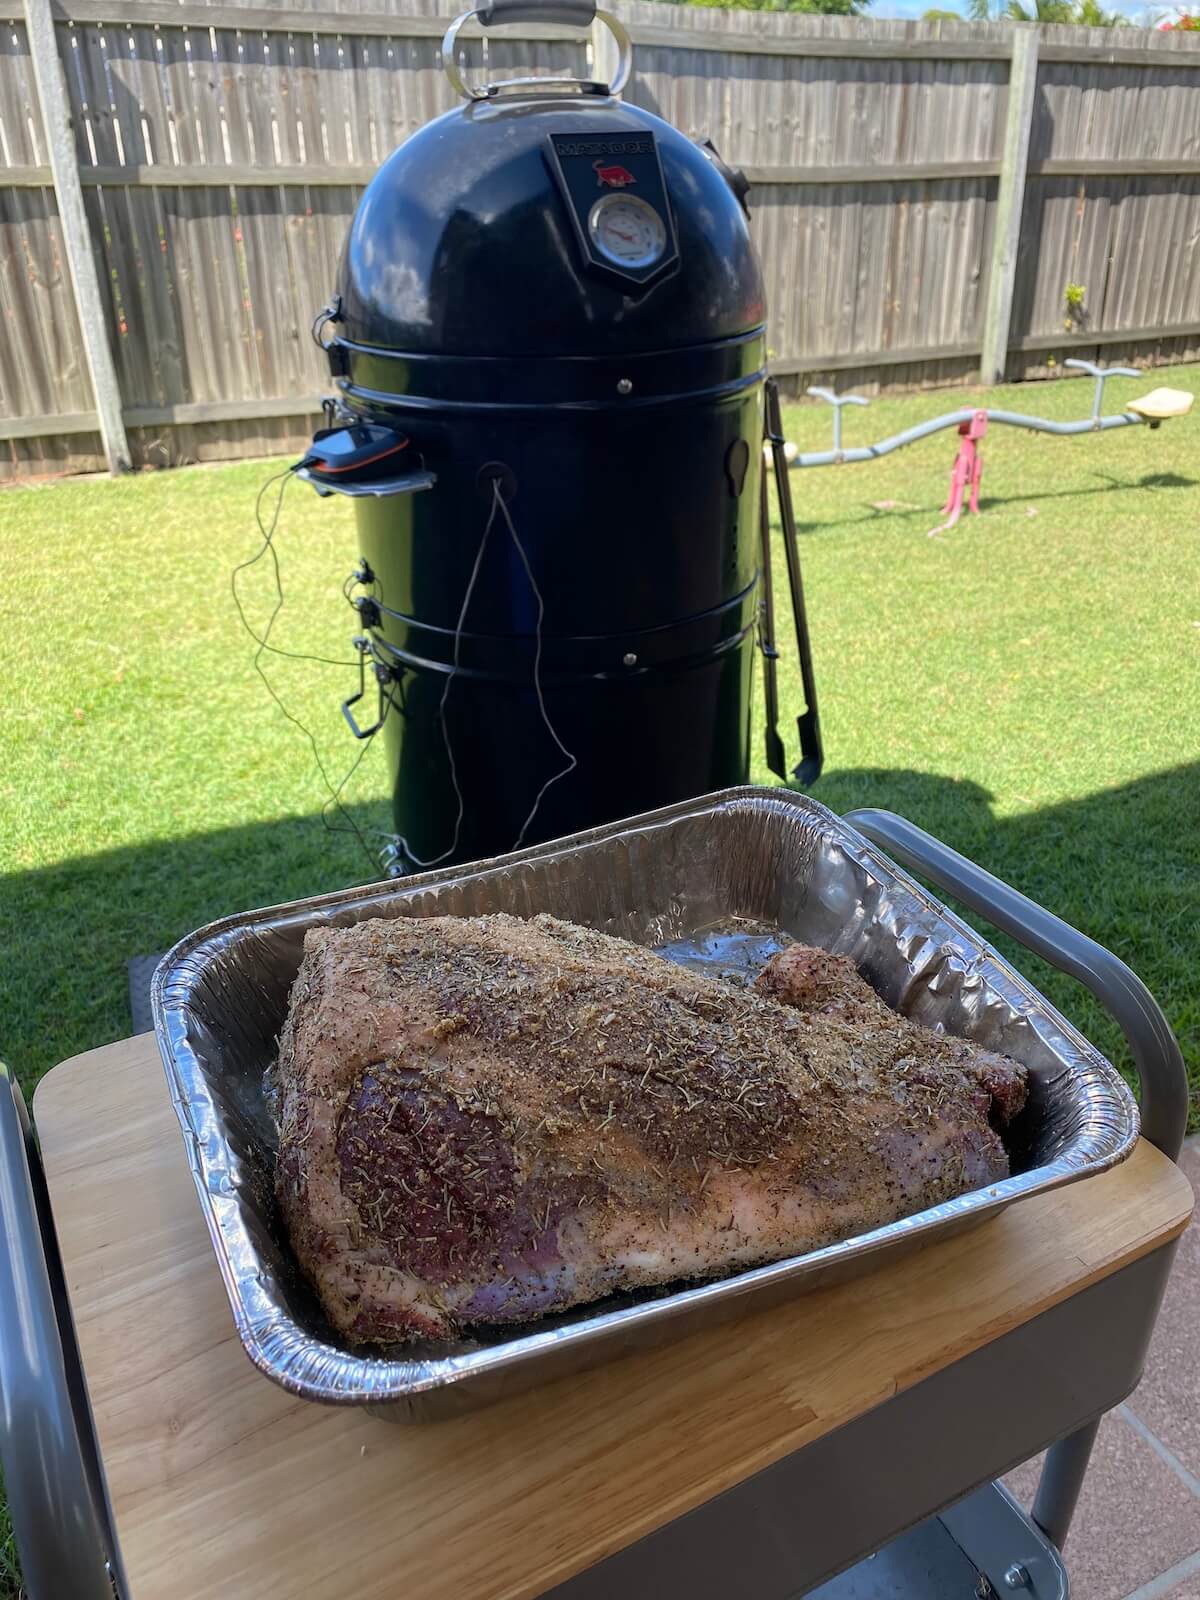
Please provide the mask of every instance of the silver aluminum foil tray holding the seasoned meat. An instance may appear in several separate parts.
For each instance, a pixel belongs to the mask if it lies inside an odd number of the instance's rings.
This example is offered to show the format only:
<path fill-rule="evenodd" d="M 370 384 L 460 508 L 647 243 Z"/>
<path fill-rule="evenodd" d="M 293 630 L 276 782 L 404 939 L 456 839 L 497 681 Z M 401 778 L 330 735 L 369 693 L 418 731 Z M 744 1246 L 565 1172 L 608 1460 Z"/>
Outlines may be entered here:
<path fill-rule="evenodd" d="M 365 917 L 494 910 L 552 912 L 730 981 L 744 981 L 787 938 L 850 955 L 899 1011 L 1030 1069 L 1029 1107 L 1010 1139 L 1013 1176 L 736 1277 L 613 1296 L 453 1346 L 341 1347 L 275 1210 L 262 1090 L 304 933 Z M 454 1414 L 862 1272 L 1112 1166 L 1138 1138 L 1120 1075 L 1024 978 L 853 827 L 786 790 L 731 789 L 499 861 L 226 917 L 165 957 L 152 998 L 246 1354 L 298 1395 L 370 1405 L 392 1421 Z"/>

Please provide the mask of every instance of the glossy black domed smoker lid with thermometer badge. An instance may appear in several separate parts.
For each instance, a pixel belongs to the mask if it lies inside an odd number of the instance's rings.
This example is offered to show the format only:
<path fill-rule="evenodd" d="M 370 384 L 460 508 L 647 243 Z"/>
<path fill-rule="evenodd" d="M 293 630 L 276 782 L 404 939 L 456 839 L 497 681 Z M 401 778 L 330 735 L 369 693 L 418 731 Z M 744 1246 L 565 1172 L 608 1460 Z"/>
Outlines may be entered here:
<path fill-rule="evenodd" d="M 619 152 L 646 134 L 672 237 L 658 277 L 638 283 L 589 262 L 578 218 L 595 163 L 581 174 L 555 149 L 614 141 Z M 562 176 L 571 160 L 584 186 L 576 214 Z M 645 163 L 637 171 L 629 194 L 653 200 L 656 179 Z M 595 190 L 606 192 L 598 173 Z M 427 355 L 667 350 L 749 333 L 765 317 L 746 214 L 714 162 L 646 110 L 578 96 L 474 102 L 413 134 L 358 202 L 338 291 L 341 339 Z"/>

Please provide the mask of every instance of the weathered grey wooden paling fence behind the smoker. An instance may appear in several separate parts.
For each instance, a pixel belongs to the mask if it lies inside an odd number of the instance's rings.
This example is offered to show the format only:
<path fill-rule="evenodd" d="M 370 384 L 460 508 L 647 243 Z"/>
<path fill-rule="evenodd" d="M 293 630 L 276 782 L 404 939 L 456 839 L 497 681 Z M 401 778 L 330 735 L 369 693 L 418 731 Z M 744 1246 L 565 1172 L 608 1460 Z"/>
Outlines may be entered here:
<path fill-rule="evenodd" d="M 0 475 L 307 437 L 326 389 L 310 320 L 362 186 L 453 101 L 456 10 L 318 3 L 22 0 L 5 26 Z M 754 181 L 794 382 L 1200 352 L 1189 35 L 616 10 L 627 98 Z M 589 50 L 554 27 L 469 46 L 496 72 L 581 72 Z"/>

